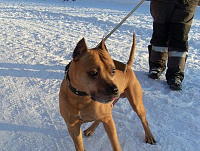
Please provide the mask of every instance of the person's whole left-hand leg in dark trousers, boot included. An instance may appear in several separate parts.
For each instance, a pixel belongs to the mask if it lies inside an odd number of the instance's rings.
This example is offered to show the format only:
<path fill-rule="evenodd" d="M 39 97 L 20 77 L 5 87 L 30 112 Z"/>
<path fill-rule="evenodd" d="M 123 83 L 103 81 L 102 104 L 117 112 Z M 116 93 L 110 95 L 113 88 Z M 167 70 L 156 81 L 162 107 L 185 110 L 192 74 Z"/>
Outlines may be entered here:
<path fill-rule="evenodd" d="M 151 1 L 150 11 L 153 17 L 153 34 L 148 46 L 149 77 L 158 79 L 166 68 L 168 53 L 169 21 L 175 8 L 174 3 Z"/>

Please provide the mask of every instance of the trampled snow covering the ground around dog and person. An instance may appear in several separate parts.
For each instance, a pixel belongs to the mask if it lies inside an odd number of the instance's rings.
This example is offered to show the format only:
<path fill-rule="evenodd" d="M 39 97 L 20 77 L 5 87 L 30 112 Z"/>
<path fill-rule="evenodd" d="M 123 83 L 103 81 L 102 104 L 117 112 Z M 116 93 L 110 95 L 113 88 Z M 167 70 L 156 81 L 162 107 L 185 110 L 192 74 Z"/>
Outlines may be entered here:
<path fill-rule="evenodd" d="M 139 0 L 0 0 L 0 151 L 73 151 L 60 116 L 58 92 L 65 65 L 85 37 L 95 47 Z M 114 59 L 127 62 L 136 33 L 133 69 L 142 85 L 147 119 L 156 145 L 144 143 L 144 130 L 127 99 L 113 109 L 124 151 L 200 150 L 200 8 L 189 34 L 183 90 L 171 91 L 165 76 L 151 80 L 148 51 L 152 34 L 149 2 L 107 39 Z M 82 129 L 91 123 L 84 124 Z M 88 151 L 112 150 L 102 124 L 84 138 Z"/>

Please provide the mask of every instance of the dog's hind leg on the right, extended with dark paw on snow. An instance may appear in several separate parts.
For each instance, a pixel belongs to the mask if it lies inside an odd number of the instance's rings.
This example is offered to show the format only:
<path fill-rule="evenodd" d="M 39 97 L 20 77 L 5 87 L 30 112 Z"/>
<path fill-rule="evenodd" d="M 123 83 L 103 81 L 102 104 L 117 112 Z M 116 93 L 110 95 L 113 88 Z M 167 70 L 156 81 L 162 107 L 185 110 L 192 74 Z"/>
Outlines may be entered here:
<path fill-rule="evenodd" d="M 149 144 L 155 144 L 156 141 L 151 133 L 147 119 L 146 111 L 143 104 L 142 88 L 138 80 L 131 83 L 126 89 L 126 96 L 131 104 L 133 110 L 137 113 L 140 118 L 145 131 L 145 142 Z"/>

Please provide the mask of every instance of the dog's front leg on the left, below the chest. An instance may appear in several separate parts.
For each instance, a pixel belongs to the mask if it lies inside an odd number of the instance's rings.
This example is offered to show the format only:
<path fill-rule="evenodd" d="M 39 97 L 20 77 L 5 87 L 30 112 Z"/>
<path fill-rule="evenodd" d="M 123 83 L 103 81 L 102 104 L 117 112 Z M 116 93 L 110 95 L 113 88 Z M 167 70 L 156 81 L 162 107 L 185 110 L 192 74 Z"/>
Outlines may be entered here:
<path fill-rule="evenodd" d="M 74 142 L 76 151 L 84 151 L 81 124 L 68 124 L 67 127 Z"/>

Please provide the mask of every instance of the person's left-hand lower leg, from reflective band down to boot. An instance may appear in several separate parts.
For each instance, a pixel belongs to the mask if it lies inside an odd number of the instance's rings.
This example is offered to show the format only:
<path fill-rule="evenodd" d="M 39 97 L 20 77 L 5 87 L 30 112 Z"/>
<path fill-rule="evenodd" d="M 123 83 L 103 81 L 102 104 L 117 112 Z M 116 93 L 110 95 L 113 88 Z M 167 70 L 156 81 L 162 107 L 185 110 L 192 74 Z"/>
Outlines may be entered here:
<path fill-rule="evenodd" d="M 148 46 L 149 50 L 149 74 L 151 79 L 159 79 L 163 71 L 166 69 L 167 47 Z"/>

